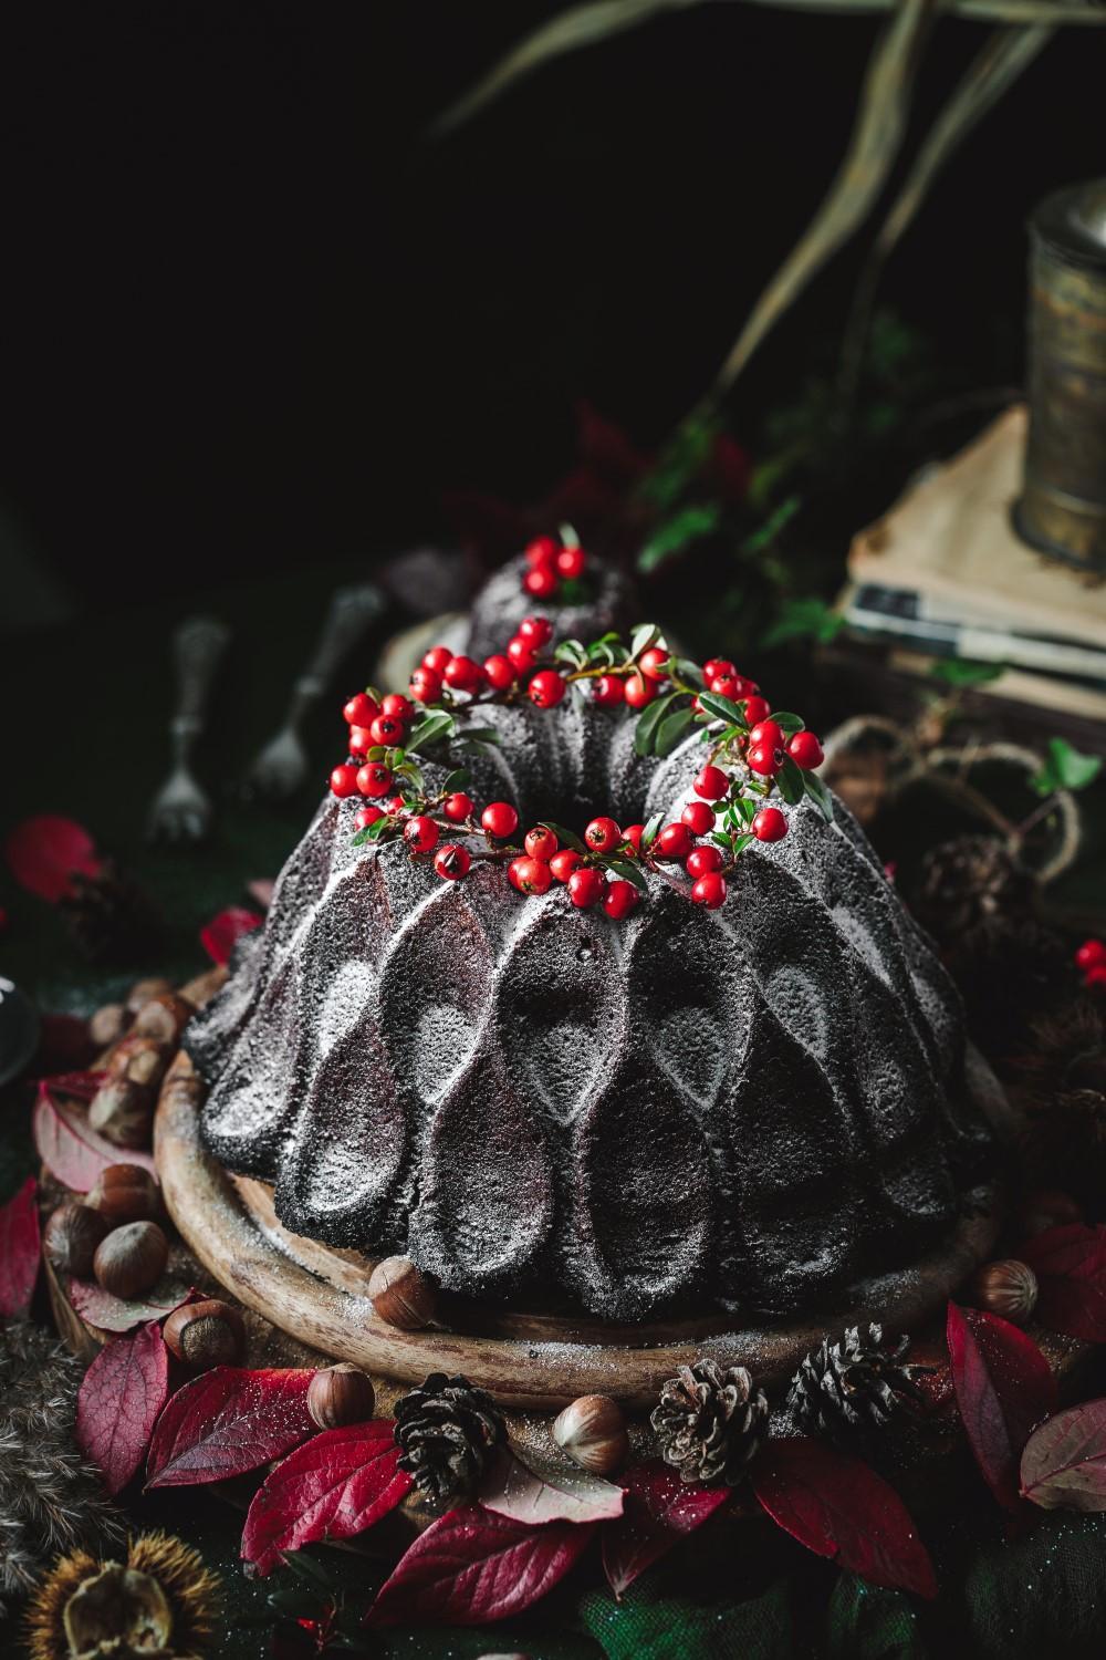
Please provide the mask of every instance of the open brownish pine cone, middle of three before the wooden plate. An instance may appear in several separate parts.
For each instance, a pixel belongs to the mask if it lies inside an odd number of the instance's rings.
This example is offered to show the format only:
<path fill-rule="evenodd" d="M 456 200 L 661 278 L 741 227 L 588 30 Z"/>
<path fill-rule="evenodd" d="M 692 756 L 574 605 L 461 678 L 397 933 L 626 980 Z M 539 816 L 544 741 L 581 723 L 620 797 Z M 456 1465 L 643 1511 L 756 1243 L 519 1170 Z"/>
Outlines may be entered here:
<path fill-rule="evenodd" d="M 715 1360 L 696 1360 L 662 1386 L 650 1423 L 680 1481 L 733 1486 L 761 1443 L 768 1401 L 745 1366 L 723 1371 Z"/>

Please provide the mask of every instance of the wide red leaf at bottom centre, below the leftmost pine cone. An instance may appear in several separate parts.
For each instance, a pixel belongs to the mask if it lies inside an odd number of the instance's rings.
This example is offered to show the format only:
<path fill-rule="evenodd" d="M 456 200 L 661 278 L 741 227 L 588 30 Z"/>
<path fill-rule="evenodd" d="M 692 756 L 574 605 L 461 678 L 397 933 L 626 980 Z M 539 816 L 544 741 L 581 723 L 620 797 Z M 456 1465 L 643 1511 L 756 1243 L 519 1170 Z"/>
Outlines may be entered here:
<path fill-rule="evenodd" d="M 368 1625 L 483 1625 L 532 1607 L 587 1550 L 594 1522 L 527 1527 L 466 1504 L 426 1529 L 381 1585 Z"/>

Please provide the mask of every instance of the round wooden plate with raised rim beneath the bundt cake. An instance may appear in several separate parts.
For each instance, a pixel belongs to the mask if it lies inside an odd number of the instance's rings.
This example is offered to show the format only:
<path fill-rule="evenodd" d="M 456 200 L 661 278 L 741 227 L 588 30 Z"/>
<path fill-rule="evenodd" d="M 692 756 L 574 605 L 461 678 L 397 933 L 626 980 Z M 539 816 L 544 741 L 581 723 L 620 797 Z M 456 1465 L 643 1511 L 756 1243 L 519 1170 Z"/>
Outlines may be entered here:
<path fill-rule="evenodd" d="M 977 1096 L 990 1079 L 977 1079 Z M 579 1394 L 610 1394 L 647 1408 L 665 1378 L 713 1355 L 745 1365 L 766 1388 L 783 1384 L 829 1325 L 879 1318 L 915 1330 L 987 1258 L 998 1233 L 998 1207 L 965 1218 L 924 1262 L 864 1285 L 859 1306 L 827 1308 L 817 1323 L 733 1328 L 708 1316 L 640 1326 L 589 1316 L 504 1310 L 461 1298 L 441 1303 L 441 1325 L 398 1331 L 368 1298 L 371 1260 L 289 1233 L 275 1217 L 272 1190 L 235 1179 L 201 1144 L 204 1086 L 181 1052 L 166 1076 L 154 1124 L 154 1157 L 164 1202 L 204 1267 L 240 1303 L 290 1336 L 335 1360 L 401 1383 L 429 1371 L 463 1373 L 502 1406 L 559 1411 Z M 982 1102 L 1000 1116 L 1005 1102 Z M 449 1330 L 446 1330 L 446 1326 Z"/>

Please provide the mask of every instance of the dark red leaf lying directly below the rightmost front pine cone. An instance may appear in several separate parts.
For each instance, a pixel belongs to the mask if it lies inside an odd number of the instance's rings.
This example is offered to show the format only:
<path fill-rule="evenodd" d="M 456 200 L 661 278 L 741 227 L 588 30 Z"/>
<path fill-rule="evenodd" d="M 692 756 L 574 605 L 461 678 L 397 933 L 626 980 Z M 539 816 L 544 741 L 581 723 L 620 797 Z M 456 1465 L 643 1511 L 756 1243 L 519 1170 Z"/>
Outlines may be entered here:
<path fill-rule="evenodd" d="M 937 1595 L 910 1512 L 859 1459 L 806 1438 L 768 1441 L 753 1464 L 753 1489 L 773 1521 L 816 1555 L 874 1585 Z"/>

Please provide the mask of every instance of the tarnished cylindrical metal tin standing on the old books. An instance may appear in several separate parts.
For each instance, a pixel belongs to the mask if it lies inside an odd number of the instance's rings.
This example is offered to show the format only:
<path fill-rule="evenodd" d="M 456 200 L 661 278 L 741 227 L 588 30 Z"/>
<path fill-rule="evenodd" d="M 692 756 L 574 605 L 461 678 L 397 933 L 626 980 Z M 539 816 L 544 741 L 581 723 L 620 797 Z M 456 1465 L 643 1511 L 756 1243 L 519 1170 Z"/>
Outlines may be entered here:
<path fill-rule="evenodd" d="M 1018 535 L 1106 574 L 1106 179 L 1030 221 L 1030 440 Z"/>

